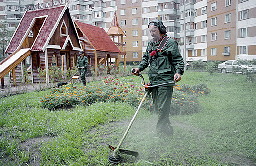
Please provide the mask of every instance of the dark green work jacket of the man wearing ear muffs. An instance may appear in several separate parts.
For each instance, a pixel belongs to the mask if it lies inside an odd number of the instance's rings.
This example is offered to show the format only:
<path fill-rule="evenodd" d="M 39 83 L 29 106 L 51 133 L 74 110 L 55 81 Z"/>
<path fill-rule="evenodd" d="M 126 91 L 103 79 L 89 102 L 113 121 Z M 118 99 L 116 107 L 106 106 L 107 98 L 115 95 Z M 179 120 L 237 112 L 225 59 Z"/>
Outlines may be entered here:
<path fill-rule="evenodd" d="M 158 51 L 156 55 L 149 58 L 150 52 L 157 50 L 161 40 L 165 36 L 167 35 L 165 34 L 156 43 L 153 39 L 150 40 L 146 52 L 142 57 L 142 61 L 138 65 L 139 70 L 143 71 L 150 64 L 148 76 L 152 85 L 172 82 L 175 73 L 182 75 L 184 72 L 184 61 L 179 53 L 178 43 L 173 38 L 168 39 L 161 52 Z M 174 85 L 174 83 L 168 84 L 167 86 L 172 85 Z"/>

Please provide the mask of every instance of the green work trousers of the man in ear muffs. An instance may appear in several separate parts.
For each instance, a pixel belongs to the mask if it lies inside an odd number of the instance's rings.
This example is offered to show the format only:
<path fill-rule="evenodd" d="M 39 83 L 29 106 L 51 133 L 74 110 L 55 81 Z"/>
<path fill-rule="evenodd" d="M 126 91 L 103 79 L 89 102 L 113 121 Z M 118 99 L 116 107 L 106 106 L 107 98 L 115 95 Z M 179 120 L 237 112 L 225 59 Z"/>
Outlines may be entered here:
<path fill-rule="evenodd" d="M 173 129 L 169 120 L 173 86 L 160 86 L 151 89 L 154 109 L 158 114 L 156 130 L 159 134 L 172 135 Z"/>

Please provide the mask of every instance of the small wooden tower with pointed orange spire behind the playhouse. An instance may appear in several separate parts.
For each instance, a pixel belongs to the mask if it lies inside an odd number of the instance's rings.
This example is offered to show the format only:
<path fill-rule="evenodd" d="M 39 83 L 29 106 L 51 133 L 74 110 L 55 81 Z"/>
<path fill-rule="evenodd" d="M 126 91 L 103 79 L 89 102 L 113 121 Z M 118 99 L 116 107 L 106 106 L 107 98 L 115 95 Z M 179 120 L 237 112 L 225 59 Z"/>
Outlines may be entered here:
<path fill-rule="evenodd" d="M 108 34 L 108 36 L 110 38 L 112 38 L 113 42 L 117 45 L 118 49 L 121 51 L 119 53 L 119 55 L 124 55 L 124 69 L 125 69 L 125 65 L 126 65 L 126 63 L 125 63 L 126 51 L 125 51 L 125 44 L 123 42 L 124 41 L 123 36 L 126 36 L 126 34 L 119 27 L 118 18 L 117 18 L 116 12 L 114 14 L 114 18 L 112 20 L 111 27 L 108 29 L 107 34 Z M 115 42 L 115 37 L 117 37 L 117 42 Z"/>

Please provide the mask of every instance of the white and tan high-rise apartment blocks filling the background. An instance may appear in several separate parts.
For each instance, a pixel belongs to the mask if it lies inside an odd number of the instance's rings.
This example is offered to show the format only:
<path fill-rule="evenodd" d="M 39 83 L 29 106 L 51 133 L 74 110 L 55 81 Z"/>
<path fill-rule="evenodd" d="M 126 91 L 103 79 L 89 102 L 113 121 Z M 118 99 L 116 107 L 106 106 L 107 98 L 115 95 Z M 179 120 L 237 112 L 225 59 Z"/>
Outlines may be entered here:
<path fill-rule="evenodd" d="M 62 1 L 43 0 L 43 3 L 49 6 Z M 0 19 L 7 19 L 10 27 L 15 27 L 24 10 L 33 6 L 37 9 L 39 3 L 42 0 L 2 0 Z M 126 61 L 130 63 L 141 61 L 151 39 L 148 23 L 153 19 L 163 21 L 167 34 L 177 39 L 187 61 L 256 58 L 256 0 L 67 0 L 67 3 L 73 20 L 105 31 L 116 13 L 119 26 L 127 35 L 123 43 Z M 121 62 L 123 57 L 120 56 Z"/>

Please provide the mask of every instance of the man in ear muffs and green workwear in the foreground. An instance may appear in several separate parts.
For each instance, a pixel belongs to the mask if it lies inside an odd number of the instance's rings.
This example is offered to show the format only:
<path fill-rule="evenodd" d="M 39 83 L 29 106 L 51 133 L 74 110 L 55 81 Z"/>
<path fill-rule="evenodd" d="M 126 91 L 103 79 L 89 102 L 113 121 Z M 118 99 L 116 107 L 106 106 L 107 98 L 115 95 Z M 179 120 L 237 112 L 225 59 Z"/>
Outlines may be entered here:
<path fill-rule="evenodd" d="M 184 61 L 178 50 L 178 43 L 167 36 L 166 28 L 160 20 L 152 20 L 149 32 L 153 39 L 148 43 L 145 54 L 135 75 L 143 71 L 150 64 L 148 73 L 150 85 L 167 82 L 178 82 L 184 72 Z M 150 88 L 154 109 L 158 114 L 157 133 L 161 136 L 172 136 L 173 128 L 169 120 L 170 105 L 174 83 Z M 150 93 L 149 92 L 149 93 Z"/>

